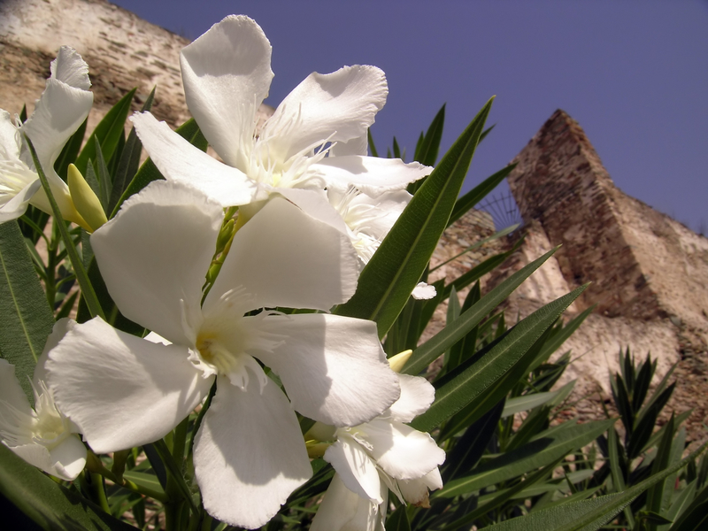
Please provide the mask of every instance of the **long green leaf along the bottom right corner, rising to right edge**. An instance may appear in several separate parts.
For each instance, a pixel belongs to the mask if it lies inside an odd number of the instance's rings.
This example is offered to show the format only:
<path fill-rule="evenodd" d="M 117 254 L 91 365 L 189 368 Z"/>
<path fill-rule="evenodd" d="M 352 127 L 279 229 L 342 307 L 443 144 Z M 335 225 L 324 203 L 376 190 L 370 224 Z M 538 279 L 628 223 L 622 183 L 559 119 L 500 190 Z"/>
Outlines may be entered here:
<path fill-rule="evenodd" d="M 663 473 L 650 476 L 648 479 L 628 488 L 624 492 L 599 496 L 573 504 L 564 504 L 538 512 L 531 512 L 523 518 L 506 520 L 501 524 L 486 527 L 489 531 L 594 531 L 615 517 L 615 515 L 631 504 L 635 497 L 649 489 L 658 481 L 662 481 L 671 473 L 676 472 L 705 450 L 705 444 L 683 459 L 680 463 L 665 470 Z M 696 498 L 697 499 L 697 498 Z M 704 502 L 708 502 L 708 496 Z M 685 513 L 684 513 L 685 514 Z M 700 519 L 706 519 L 708 511 L 696 514 Z M 672 531 L 700 529 L 700 527 L 677 527 L 677 521 Z M 700 522 L 699 522 L 700 524 Z"/>

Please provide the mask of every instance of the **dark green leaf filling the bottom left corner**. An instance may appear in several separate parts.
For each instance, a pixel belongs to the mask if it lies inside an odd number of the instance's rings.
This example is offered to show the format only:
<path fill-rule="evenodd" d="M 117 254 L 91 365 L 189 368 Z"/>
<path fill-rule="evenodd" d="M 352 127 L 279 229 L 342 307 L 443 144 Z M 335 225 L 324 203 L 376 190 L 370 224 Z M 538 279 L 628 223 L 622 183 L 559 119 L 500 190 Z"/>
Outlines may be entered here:
<path fill-rule="evenodd" d="M 0 444 L 0 494 L 47 531 L 136 529 L 52 481 L 4 444 Z"/>

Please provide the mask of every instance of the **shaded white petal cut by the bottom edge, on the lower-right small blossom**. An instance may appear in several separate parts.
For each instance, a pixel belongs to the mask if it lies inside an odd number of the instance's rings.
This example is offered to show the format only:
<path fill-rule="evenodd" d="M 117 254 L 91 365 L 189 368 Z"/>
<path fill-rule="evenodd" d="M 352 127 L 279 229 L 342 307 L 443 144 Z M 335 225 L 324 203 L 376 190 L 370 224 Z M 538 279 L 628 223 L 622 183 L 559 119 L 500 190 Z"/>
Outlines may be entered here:
<path fill-rule="evenodd" d="M 379 506 L 347 489 L 335 473 L 310 531 L 375 531 Z"/>

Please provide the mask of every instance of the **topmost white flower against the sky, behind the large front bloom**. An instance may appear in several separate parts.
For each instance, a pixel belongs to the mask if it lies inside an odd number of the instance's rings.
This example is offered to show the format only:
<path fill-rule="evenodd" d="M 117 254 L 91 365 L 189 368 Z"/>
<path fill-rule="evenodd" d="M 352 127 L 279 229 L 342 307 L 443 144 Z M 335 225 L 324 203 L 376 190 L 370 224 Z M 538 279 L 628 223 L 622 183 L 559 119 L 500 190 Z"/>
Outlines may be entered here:
<path fill-rule="evenodd" d="M 419 163 L 366 157 L 366 131 L 388 94 L 374 66 L 310 74 L 256 136 L 256 112 L 273 79 L 270 63 L 270 42 L 245 16 L 221 20 L 181 51 L 189 111 L 225 164 L 149 113 L 136 114 L 135 129 L 165 179 L 189 182 L 225 207 L 273 192 L 303 206 L 289 189 L 344 192 L 353 185 L 378 196 L 430 173 Z"/>

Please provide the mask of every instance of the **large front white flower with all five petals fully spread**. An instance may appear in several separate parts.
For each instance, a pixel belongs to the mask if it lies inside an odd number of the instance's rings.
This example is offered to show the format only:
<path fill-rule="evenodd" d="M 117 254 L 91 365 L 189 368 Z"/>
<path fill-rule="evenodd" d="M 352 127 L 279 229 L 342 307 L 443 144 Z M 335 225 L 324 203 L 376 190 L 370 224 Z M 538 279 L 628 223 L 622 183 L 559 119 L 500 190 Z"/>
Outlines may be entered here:
<path fill-rule="evenodd" d="M 92 319 L 52 350 L 50 389 L 103 453 L 163 437 L 216 381 L 196 435 L 196 480 L 214 517 L 259 527 L 312 475 L 293 408 L 357 424 L 400 390 L 372 321 L 253 312 L 328 310 L 356 289 L 348 238 L 282 198 L 235 234 L 200 304 L 222 220 L 220 205 L 198 190 L 155 181 L 96 230 L 91 244 L 120 311 L 172 344 Z"/>

